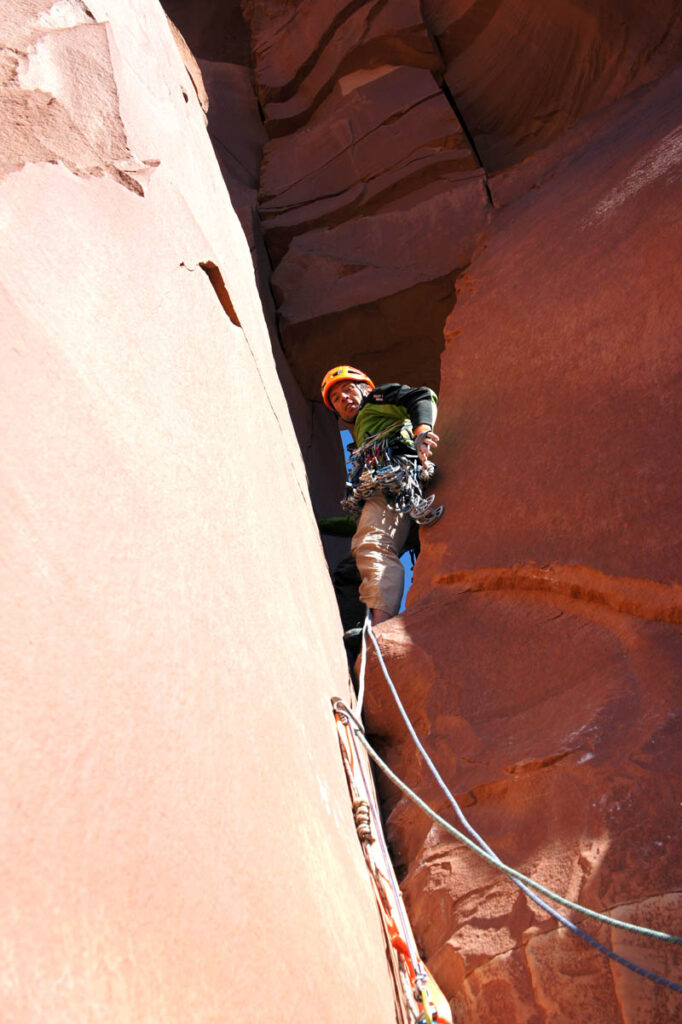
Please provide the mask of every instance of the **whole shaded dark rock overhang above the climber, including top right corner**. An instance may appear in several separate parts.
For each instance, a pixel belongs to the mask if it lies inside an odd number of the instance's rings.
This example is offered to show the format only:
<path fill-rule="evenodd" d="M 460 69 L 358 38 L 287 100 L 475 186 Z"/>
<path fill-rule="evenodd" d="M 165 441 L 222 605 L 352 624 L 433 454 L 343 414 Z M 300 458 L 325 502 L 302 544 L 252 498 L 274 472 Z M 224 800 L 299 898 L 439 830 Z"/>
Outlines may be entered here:
<path fill-rule="evenodd" d="M 491 202 L 541 181 L 583 141 L 568 129 L 682 56 L 676 0 L 242 8 L 269 136 L 259 214 L 283 344 L 309 397 L 321 367 L 344 360 L 437 385 L 453 282 Z"/>

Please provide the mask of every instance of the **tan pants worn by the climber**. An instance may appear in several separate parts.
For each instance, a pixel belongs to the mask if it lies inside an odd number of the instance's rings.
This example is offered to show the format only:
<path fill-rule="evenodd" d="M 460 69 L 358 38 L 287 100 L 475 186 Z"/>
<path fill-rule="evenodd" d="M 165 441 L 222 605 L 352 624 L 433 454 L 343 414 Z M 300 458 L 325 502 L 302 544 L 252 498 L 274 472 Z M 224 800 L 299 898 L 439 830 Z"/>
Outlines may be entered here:
<path fill-rule="evenodd" d="M 395 615 L 404 585 L 400 551 L 410 532 L 410 516 L 395 512 L 383 495 L 363 506 L 350 550 L 363 579 L 359 595 L 368 608 Z"/>

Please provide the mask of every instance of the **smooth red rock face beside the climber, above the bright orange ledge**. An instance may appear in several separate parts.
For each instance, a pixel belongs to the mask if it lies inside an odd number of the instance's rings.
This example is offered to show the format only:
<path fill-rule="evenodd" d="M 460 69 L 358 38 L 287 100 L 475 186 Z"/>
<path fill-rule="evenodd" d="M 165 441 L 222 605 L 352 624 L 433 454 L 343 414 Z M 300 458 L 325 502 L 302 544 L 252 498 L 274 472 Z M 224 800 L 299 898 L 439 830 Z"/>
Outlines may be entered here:
<path fill-rule="evenodd" d="M 677 82 L 505 211 L 460 279 L 439 421 L 452 525 L 420 580 L 528 560 L 678 578 Z"/>

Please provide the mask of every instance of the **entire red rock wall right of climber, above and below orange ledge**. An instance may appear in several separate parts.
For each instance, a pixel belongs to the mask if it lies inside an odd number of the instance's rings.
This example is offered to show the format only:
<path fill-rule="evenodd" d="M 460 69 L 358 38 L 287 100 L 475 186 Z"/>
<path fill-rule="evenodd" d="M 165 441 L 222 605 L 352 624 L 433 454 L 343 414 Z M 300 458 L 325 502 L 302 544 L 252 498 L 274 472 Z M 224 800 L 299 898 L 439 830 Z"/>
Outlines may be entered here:
<path fill-rule="evenodd" d="M 408 710 L 508 863 L 682 932 L 682 74 L 611 110 L 497 215 L 445 328 L 437 495 L 409 609 L 380 627 Z M 373 669 L 389 762 L 452 818 Z M 394 791 L 404 892 L 456 1020 L 670 1024 Z M 677 947 L 603 942 L 680 982 Z"/>

